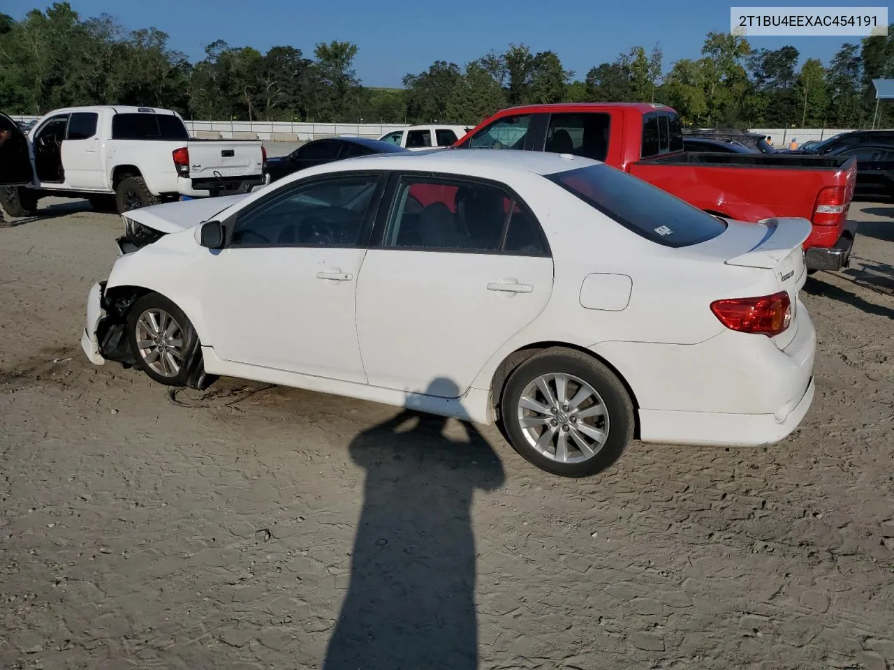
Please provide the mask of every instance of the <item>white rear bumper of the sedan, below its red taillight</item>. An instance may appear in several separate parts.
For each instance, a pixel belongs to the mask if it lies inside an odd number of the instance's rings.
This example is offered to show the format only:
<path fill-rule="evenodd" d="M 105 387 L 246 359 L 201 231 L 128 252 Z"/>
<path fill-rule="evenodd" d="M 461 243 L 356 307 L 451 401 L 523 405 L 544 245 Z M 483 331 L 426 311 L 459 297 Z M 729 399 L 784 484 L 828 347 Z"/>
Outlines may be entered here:
<path fill-rule="evenodd" d="M 797 428 L 813 400 L 816 330 L 800 300 L 784 347 L 722 331 L 696 345 L 607 342 L 595 352 L 628 381 L 640 439 L 660 444 L 757 446 Z"/>

